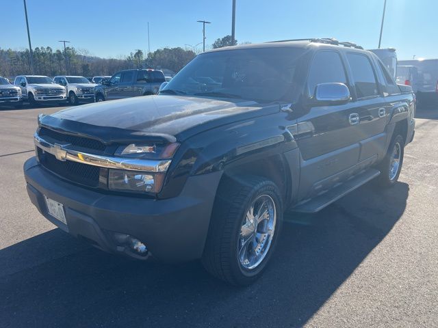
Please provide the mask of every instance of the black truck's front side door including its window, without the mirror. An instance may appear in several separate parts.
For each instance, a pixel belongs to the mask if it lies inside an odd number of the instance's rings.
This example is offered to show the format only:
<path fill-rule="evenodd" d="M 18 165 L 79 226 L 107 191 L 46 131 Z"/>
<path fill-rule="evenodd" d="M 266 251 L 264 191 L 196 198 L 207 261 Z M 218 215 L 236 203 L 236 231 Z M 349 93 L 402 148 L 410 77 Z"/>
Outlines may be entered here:
<path fill-rule="evenodd" d="M 337 51 L 318 51 L 307 81 L 309 105 L 298 118 L 296 142 L 301 153 L 300 199 L 313 197 L 350 176 L 357 165 L 360 135 L 352 102 L 320 105 L 312 102 L 321 83 L 349 85 L 346 66 Z M 351 90 L 351 88 L 350 88 Z"/>

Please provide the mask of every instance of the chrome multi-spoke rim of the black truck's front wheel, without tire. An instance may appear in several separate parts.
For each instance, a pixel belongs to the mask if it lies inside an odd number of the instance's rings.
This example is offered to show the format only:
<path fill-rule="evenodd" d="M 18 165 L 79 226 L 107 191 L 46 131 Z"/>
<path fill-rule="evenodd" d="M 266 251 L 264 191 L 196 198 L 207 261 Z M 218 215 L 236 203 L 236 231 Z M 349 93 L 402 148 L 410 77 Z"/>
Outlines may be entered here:
<path fill-rule="evenodd" d="M 255 269 L 266 258 L 275 224 L 274 200 L 269 195 L 260 195 L 250 204 L 240 228 L 237 257 L 244 269 Z"/>

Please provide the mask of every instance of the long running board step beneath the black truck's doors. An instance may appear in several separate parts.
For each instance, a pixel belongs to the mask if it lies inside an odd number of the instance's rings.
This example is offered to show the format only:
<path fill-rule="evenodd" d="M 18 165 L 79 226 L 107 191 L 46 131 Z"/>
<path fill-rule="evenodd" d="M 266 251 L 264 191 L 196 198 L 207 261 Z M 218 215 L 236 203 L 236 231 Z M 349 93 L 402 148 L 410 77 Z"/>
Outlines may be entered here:
<path fill-rule="evenodd" d="M 339 198 L 344 197 L 347 193 L 350 193 L 368 181 L 376 178 L 379 174 L 381 174 L 381 172 L 377 169 L 367 169 L 325 193 L 315 196 L 305 202 L 296 204 L 296 206 L 290 208 L 289 211 L 298 213 L 316 213 L 322 210 L 322 208 L 336 202 Z"/>

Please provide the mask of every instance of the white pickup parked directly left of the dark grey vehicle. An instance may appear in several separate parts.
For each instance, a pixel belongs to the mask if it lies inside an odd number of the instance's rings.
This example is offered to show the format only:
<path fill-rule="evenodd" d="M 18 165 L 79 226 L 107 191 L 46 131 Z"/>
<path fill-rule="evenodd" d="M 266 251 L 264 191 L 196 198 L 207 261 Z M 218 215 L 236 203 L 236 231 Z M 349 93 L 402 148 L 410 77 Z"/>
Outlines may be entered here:
<path fill-rule="evenodd" d="M 62 75 L 54 77 L 53 81 L 66 87 L 70 105 L 77 105 L 79 102 L 94 102 L 94 87 L 97 84 L 91 83 L 85 77 Z"/>

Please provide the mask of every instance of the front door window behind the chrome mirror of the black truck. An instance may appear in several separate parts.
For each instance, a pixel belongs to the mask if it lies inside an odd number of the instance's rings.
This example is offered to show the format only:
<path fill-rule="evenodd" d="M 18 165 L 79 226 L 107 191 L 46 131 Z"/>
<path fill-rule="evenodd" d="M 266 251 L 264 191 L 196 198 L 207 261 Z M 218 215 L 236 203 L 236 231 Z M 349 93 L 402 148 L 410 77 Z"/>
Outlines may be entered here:
<path fill-rule="evenodd" d="M 339 53 L 335 51 L 319 51 L 313 61 L 307 79 L 309 96 L 315 94 L 315 87 L 321 83 L 344 83 L 347 78 Z"/>

